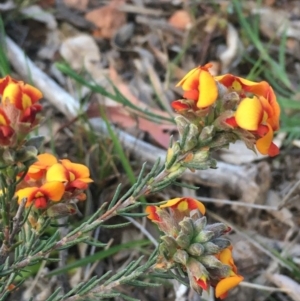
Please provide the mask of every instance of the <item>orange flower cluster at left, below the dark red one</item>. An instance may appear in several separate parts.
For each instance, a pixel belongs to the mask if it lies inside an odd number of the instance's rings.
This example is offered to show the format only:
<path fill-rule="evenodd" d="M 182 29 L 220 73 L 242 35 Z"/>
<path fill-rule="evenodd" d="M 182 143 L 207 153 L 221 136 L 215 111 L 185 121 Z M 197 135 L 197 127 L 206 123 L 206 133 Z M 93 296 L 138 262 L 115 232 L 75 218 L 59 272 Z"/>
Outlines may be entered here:
<path fill-rule="evenodd" d="M 16 192 L 18 202 L 26 198 L 26 207 L 33 205 L 35 209 L 47 210 L 48 215 L 55 215 L 55 208 L 69 209 L 69 214 L 75 213 L 72 206 L 61 208 L 53 205 L 60 201 L 67 204 L 71 200 L 85 200 L 84 190 L 92 182 L 85 165 L 67 159 L 58 161 L 47 153 L 37 156 L 37 161 L 23 177 Z"/>

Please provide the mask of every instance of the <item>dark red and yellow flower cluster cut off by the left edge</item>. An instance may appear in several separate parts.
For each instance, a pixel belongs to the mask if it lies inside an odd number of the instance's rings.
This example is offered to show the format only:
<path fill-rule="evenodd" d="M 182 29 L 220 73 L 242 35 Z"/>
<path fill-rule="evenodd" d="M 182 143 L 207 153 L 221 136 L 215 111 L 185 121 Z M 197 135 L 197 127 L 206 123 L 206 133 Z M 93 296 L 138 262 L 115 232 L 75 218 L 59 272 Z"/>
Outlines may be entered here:
<path fill-rule="evenodd" d="M 0 79 L 0 145 L 16 146 L 39 123 L 43 97 L 35 87 L 10 76 Z"/>

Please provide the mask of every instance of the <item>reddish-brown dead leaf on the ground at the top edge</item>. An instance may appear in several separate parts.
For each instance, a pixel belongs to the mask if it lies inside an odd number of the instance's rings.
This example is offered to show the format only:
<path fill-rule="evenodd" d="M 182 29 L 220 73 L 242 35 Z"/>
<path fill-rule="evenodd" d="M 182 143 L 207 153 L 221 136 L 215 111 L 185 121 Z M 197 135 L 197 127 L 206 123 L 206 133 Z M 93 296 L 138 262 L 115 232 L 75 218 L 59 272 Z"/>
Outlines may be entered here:
<path fill-rule="evenodd" d="M 97 27 L 93 32 L 95 37 L 110 39 L 126 23 L 126 13 L 118 10 L 124 2 L 124 0 L 112 0 L 108 5 L 96 8 L 85 15 L 86 20 Z"/>

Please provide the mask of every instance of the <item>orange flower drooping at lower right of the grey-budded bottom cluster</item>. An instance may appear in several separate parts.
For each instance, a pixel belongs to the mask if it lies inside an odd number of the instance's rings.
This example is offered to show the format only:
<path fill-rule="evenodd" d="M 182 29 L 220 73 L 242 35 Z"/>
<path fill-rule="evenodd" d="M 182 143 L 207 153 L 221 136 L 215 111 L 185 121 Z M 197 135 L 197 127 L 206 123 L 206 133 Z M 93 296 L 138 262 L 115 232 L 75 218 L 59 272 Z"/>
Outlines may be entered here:
<path fill-rule="evenodd" d="M 244 278 L 243 276 L 237 274 L 237 268 L 234 264 L 230 248 L 226 248 L 221 251 L 217 257 L 223 264 L 227 264 L 231 268 L 229 276 L 221 279 L 216 285 L 216 297 L 224 299 L 227 297 L 227 292 L 236 287 L 244 280 Z"/>

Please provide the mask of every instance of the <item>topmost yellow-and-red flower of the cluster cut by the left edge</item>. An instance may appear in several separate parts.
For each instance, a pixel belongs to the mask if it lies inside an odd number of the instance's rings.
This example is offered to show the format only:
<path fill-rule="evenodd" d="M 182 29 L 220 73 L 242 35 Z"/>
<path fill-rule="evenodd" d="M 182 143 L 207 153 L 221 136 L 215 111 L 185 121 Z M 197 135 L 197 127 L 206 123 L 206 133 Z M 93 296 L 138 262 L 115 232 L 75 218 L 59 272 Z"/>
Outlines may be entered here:
<path fill-rule="evenodd" d="M 23 81 L 17 81 L 10 76 L 0 79 L 0 95 L 2 95 L 3 105 L 8 101 L 21 111 L 43 97 L 37 88 L 25 84 Z"/>

